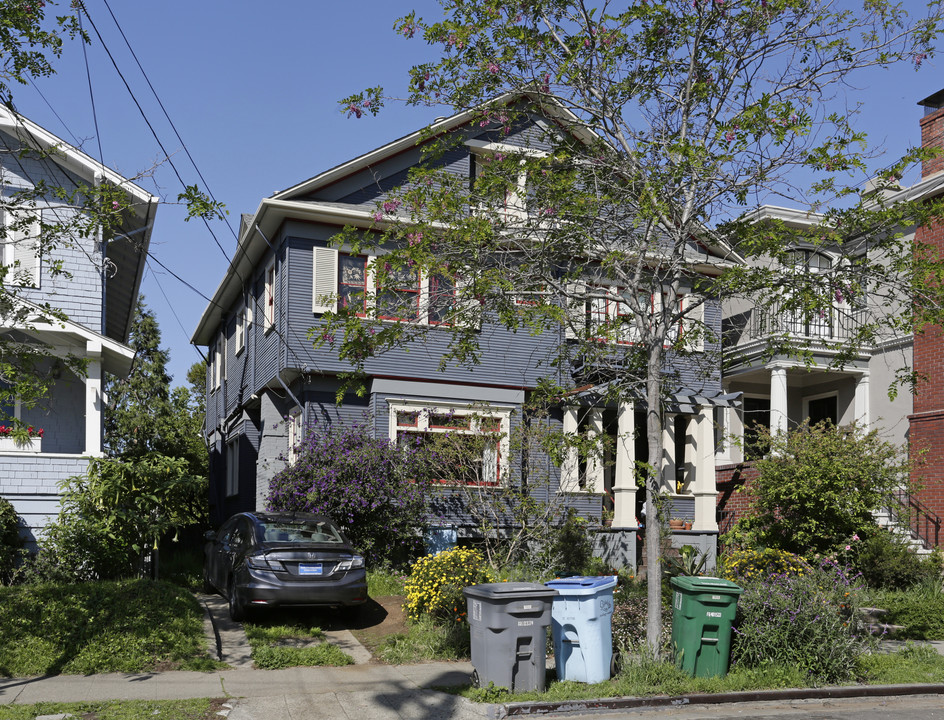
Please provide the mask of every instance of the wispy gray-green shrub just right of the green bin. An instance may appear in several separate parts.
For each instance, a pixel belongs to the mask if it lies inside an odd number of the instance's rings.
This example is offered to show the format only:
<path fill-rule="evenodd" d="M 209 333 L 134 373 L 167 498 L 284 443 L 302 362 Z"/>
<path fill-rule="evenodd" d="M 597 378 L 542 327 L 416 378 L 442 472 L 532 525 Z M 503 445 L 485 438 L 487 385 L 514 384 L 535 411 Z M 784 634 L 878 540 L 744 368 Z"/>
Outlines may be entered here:
<path fill-rule="evenodd" d="M 731 658 L 735 666 L 797 667 L 813 684 L 854 678 L 872 648 L 858 608 L 864 593 L 845 569 L 825 561 L 809 572 L 742 576 Z"/>

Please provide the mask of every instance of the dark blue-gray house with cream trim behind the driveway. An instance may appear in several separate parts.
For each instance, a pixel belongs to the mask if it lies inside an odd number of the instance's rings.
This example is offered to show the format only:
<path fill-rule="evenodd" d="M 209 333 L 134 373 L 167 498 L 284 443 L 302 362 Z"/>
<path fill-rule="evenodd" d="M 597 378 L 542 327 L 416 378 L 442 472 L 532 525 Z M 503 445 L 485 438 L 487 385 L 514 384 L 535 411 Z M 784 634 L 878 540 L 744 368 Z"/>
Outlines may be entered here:
<path fill-rule="evenodd" d="M 460 136 L 455 148 L 436 162 L 466 178 L 474 178 L 483 155 L 509 146 L 533 151 L 539 142 L 535 127 L 562 125 L 562 118 L 535 113 L 530 123 L 501 133 L 499 141 L 495 128 L 473 123 L 473 117 L 471 112 L 460 113 L 438 120 L 431 129 L 432 137 Z M 332 238 L 345 226 L 365 231 L 374 226 L 378 203 L 407 180 L 429 139 L 423 132 L 400 138 L 263 199 L 256 212 L 244 218 L 235 257 L 192 337 L 194 344 L 209 350 L 206 432 L 211 515 L 216 522 L 263 507 L 269 480 L 291 458 L 295 442 L 316 425 L 366 418 L 376 437 L 396 441 L 410 433 L 487 431 L 480 422 L 462 420 L 478 414 L 487 418 L 490 429 L 507 437 L 522 422 L 526 401 L 548 372 L 561 373 L 555 379 L 562 384 L 574 384 L 563 377 L 566 370 L 534 361 L 544 348 L 567 342 L 563 329 L 534 335 L 484 322 L 481 363 L 441 370 L 447 333 L 438 327 L 436 303 L 428 302 L 441 289 L 435 277 L 414 277 L 409 287 L 397 289 L 400 297 L 412 293 L 417 308 L 429 309 L 390 321 L 423 326 L 422 340 L 371 358 L 366 394 L 348 395 L 336 403 L 339 375 L 349 366 L 330 349 L 314 349 L 308 331 L 349 293 L 359 291 L 369 298 L 382 292 L 372 293 L 376 258 L 338 247 Z M 705 245 L 700 247 L 699 252 L 710 254 Z M 587 322 L 618 312 L 619 293 L 614 289 L 611 295 L 588 298 Z M 720 307 L 710 300 L 702 307 L 701 319 L 720 337 Z M 707 374 L 677 369 L 688 391 L 670 398 L 667 406 L 664 485 L 676 508 L 673 514 L 693 523 L 691 530 L 682 531 L 687 535 L 679 535 L 679 542 L 714 549 L 716 402 L 709 398 L 721 395 L 720 364 Z M 550 484 L 533 491 L 566 496 L 569 505 L 597 521 L 604 507 L 611 509 L 610 544 L 620 548 L 621 562 L 634 564 L 644 494 L 637 493 L 635 464 L 636 457 L 645 457 L 641 408 L 607 404 L 588 387 L 569 396 L 551 422 L 567 433 L 607 434 L 613 442 L 605 458 L 569 454 L 562 466 L 552 468 Z M 527 474 L 524 462 L 500 442 L 481 459 L 482 476 L 493 483 L 521 482 Z M 458 526 L 460 535 L 468 530 L 469 518 L 461 509 L 447 520 Z"/>

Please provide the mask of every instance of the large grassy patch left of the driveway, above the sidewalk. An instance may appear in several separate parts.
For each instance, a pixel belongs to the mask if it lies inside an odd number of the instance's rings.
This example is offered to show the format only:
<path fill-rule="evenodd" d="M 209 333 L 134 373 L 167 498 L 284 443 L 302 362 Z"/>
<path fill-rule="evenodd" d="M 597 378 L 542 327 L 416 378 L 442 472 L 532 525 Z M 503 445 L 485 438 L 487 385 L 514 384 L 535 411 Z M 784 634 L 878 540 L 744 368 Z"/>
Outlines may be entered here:
<path fill-rule="evenodd" d="M 212 670 L 203 610 L 162 581 L 0 587 L 0 676 Z"/>

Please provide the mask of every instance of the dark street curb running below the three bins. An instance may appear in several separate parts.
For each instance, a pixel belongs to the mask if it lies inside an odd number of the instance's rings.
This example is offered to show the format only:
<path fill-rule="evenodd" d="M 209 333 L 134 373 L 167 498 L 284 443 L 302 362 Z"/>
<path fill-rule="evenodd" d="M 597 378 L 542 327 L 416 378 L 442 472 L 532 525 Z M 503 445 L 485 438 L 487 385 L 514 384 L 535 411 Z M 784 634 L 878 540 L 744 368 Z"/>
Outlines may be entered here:
<path fill-rule="evenodd" d="M 599 700 L 561 700 L 556 702 L 523 702 L 489 705 L 490 720 L 527 715 L 554 715 L 594 710 L 641 710 L 647 708 L 682 707 L 686 705 L 724 705 L 745 702 L 783 700 L 827 700 L 867 697 L 898 697 L 903 695 L 944 695 L 944 684 L 928 685 L 848 685 L 826 688 L 792 688 L 786 690 L 750 690 L 729 693 L 693 693 L 691 695 L 659 695 L 656 697 L 618 697 Z"/>

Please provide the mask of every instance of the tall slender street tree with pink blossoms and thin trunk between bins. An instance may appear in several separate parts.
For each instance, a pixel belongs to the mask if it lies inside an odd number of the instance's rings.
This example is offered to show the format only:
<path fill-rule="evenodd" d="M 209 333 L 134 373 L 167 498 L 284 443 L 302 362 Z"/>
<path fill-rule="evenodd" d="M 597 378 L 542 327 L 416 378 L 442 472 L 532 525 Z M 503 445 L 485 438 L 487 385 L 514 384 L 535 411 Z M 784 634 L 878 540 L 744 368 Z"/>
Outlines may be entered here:
<path fill-rule="evenodd" d="M 843 103 L 857 71 L 921 64 L 938 34 L 938 3 L 915 18 L 888 0 L 442 5 L 439 21 L 411 13 L 396 24 L 442 53 L 410 70 L 407 101 L 467 110 L 470 124 L 500 147 L 477 158 L 470 185 L 445 172 L 441 160 L 464 138 L 431 130 L 425 166 L 378 205 L 379 232 L 341 239 L 355 252 L 393 248 L 378 268 L 380 287 L 414 269 L 444 278 L 455 297 L 444 363 L 477 362 L 483 320 L 556 333 L 561 341 L 541 360 L 576 368 L 564 374 L 573 382 L 615 379 L 611 399 L 641 399 L 648 464 L 659 468 L 663 403 L 678 389 L 671 368 L 679 358 L 704 357 L 702 347 L 718 348 L 701 322 L 705 298 L 749 296 L 763 305 L 780 296 L 790 312 L 810 318 L 835 291 L 863 297 L 878 288 L 882 297 L 894 290 L 909 298 L 920 290 L 920 308 L 889 302 L 891 311 L 852 344 L 874 338 L 881 323 L 911 327 L 939 316 L 942 283 L 924 280 L 941 277 L 940 263 L 913 254 L 895 232 L 939 211 L 882 207 L 881 193 L 853 195 L 848 184 L 867 170 L 868 155 Z M 378 87 L 342 107 L 361 117 L 384 102 Z M 519 131 L 535 117 L 550 122 L 521 147 Z M 512 137 L 517 148 L 503 143 Z M 896 164 L 878 189 L 920 156 L 915 151 Z M 824 213 L 802 237 L 783 224 L 769 223 L 761 233 L 735 220 L 749 201 L 778 196 L 808 207 L 837 197 L 848 203 Z M 741 264 L 749 257 L 786 261 L 787 248 L 800 241 L 838 243 L 850 262 L 819 276 L 785 274 L 777 263 Z M 785 295 L 771 292 L 785 287 Z M 588 307 L 611 302 L 616 313 L 588 318 Z M 443 311 L 434 293 L 430 303 L 431 311 Z M 356 374 L 373 354 L 425 332 L 380 323 L 381 305 L 367 318 L 344 309 L 329 314 L 316 342 L 333 342 Z M 927 315 L 917 318 L 915 310 Z M 650 473 L 650 518 L 659 492 L 658 473 Z M 656 649 L 659 524 L 648 523 L 646 534 L 648 637 Z"/>

